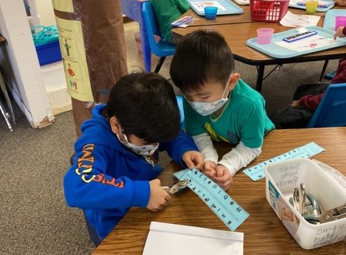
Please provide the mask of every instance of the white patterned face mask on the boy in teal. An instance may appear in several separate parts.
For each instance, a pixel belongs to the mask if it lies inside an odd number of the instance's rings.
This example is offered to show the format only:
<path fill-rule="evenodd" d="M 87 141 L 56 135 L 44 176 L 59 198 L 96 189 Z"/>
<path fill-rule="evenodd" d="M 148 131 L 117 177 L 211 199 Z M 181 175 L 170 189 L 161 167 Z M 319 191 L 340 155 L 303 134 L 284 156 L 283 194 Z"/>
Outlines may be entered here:
<path fill-rule="evenodd" d="M 227 94 L 226 98 L 224 98 L 224 94 L 226 92 L 229 80 L 231 80 L 231 77 L 232 77 L 232 75 L 229 76 L 225 90 L 222 93 L 222 97 L 219 100 L 217 100 L 215 102 L 191 102 L 188 99 L 186 99 L 186 97 L 185 97 L 186 101 L 188 101 L 190 106 L 202 116 L 207 116 L 207 115 L 212 114 L 213 112 L 216 112 L 218 109 L 220 109 L 227 102 L 228 94 Z"/>

